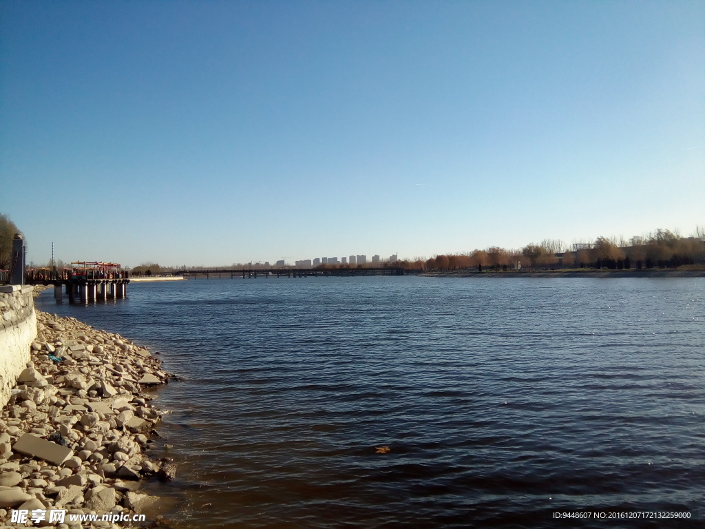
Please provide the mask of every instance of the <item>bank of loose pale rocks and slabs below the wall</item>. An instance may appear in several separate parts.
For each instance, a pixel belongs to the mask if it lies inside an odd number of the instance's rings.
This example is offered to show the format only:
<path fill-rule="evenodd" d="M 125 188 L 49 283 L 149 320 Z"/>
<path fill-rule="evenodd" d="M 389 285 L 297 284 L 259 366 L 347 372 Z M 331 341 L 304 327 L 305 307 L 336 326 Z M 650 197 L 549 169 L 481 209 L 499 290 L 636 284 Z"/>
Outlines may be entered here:
<path fill-rule="evenodd" d="M 140 493 L 146 478 L 173 478 L 168 460 L 143 451 L 161 412 L 145 389 L 171 377 L 146 348 L 74 318 L 37 311 L 32 358 L 0 415 L 0 521 L 4 527 L 59 529 L 153 526 L 157 497 Z M 11 521 L 14 510 L 46 511 L 45 521 Z M 64 509 L 63 523 L 49 511 Z M 114 515 L 100 521 L 102 515 Z M 97 514 L 98 521 L 71 521 Z M 120 517 L 120 515 L 123 515 Z M 136 519 L 136 518 L 135 518 Z M 119 521 L 119 525 L 112 523 Z"/>

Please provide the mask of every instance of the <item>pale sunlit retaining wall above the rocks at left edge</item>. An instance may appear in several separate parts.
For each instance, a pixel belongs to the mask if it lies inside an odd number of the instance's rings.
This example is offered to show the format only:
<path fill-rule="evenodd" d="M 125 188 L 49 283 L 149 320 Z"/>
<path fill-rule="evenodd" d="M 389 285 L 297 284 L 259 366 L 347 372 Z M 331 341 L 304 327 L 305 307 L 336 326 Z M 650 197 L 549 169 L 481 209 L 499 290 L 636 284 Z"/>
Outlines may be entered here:
<path fill-rule="evenodd" d="M 37 337 L 32 286 L 0 286 L 0 406 L 5 406 Z"/>

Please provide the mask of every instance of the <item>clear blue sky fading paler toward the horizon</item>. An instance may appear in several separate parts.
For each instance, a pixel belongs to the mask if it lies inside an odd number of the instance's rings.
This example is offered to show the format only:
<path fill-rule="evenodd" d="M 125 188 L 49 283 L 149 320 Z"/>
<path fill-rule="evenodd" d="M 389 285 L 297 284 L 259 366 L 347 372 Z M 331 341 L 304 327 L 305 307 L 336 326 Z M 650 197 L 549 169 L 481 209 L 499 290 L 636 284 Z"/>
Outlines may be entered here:
<path fill-rule="evenodd" d="M 705 224 L 704 1 L 0 0 L 29 260 L 288 262 Z"/>

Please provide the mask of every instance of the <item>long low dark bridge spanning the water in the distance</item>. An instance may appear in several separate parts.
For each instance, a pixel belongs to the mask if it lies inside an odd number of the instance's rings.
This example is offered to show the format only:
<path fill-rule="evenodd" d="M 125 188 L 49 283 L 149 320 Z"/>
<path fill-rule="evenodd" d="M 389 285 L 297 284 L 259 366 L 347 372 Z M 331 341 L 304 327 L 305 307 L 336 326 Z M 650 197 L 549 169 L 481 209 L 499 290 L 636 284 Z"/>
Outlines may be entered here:
<path fill-rule="evenodd" d="M 249 279 L 257 279 L 257 276 L 269 278 L 276 277 L 317 277 L 317 276 L 403 276 L 406 274 L 403 268 L 250 268 L 250 269 L 196 269 L 196 270 L 178 270 L 175 275 L 184 276 L 185 279 L 196 279 L 211 277 L 222 279 L 230 276 L 246 277 Z"/>

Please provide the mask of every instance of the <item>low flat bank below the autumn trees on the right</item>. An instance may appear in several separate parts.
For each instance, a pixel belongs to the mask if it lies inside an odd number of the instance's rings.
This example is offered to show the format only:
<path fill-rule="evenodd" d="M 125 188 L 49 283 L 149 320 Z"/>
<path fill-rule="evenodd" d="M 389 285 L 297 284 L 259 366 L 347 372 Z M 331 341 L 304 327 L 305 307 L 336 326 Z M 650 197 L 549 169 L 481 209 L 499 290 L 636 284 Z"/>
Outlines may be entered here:
<path fill-rule="evenodd" d="M 556 277 L 595 277 L 595 278 L 622 278 L 622 277 L 705 277 L 705 270 L 678 270 L 678 269 L 647 269 L 647 270 L 532 270 L 512 272 L 424 272 L 417 274 L 420 277 L 471 277 L 484 279 L 489 277 L 503 278 L 556 278 Z"/>

